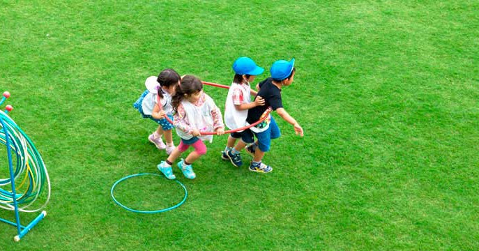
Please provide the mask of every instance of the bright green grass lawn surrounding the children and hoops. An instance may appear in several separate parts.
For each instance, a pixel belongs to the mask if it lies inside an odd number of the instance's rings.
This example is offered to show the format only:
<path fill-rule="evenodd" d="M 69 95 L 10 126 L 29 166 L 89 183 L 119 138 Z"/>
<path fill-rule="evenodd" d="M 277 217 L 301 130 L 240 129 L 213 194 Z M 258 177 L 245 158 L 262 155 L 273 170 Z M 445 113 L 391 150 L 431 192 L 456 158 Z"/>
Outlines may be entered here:
<path fill-rule="evenodd" d="M 20 243 L 0 222 L 0 250 L 478 250 L 478 48 L 477 0 L 0 0 L 0 92 L 52 178 L 47 217 Z M 146 77 L 229 85 L 238 56 L 266 69 L 254 84 L 296 58 L 282 95 L 305 137 L 273 114 L 271 174 L 220 160 L 220 136 L 195 180 L 174 169 L 183 206 L 114 204 L 116 180 L 167 157 L 132 108 Z M 225 89 L 205 91 L 224 109 Z M 116 195 L 145 210 L 183 196 L 155 176 Z"/>

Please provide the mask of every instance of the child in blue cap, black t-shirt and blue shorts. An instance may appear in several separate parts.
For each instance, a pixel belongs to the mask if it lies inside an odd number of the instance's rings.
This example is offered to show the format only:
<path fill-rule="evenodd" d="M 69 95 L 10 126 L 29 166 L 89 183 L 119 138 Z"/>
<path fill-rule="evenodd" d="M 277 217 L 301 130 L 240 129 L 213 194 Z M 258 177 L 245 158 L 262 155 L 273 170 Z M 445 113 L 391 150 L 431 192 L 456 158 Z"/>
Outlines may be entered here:
<path fill-rule="evenodd" d="M 259 119 L 261 119 L 261 114 L 263 114 L 268 107 L 271 107 L 273 111 L 276 111 L 277 114 L 282 117 L 282 119 L 294 126 L 296 135 L 299 134 L 303 137 L 303 128 L 301 128 L 299 123 L 286 112 L 281 100 L 282 88 L 284 86 L 289 86 L 294 80 L 294 73 L 296 72 L 296 69 L 294 68 L 294 59 L 291 59 L 291 61 L 275 61 L 271 66 L 270 72 L 271 77 L 258 84 L 259 91 L 257 96 L 264 98 L 265 105 L 249 109 L 246 122 L 252 124 L 259 121 Z M 268 119 L 265 119 L 263 122 L 250 129 L 258 138 L 257 147 L 253 150 L 254 158 L 250 165 L 250 171 L 261 173 L 273 171 L 272 167 L 264 165 L 261 160 L 263 159 L 264 153 L 270 149 L 271 139 L 280 137 L 280 128 L 277 127 L 273 116 L 269 114 Z"/>

